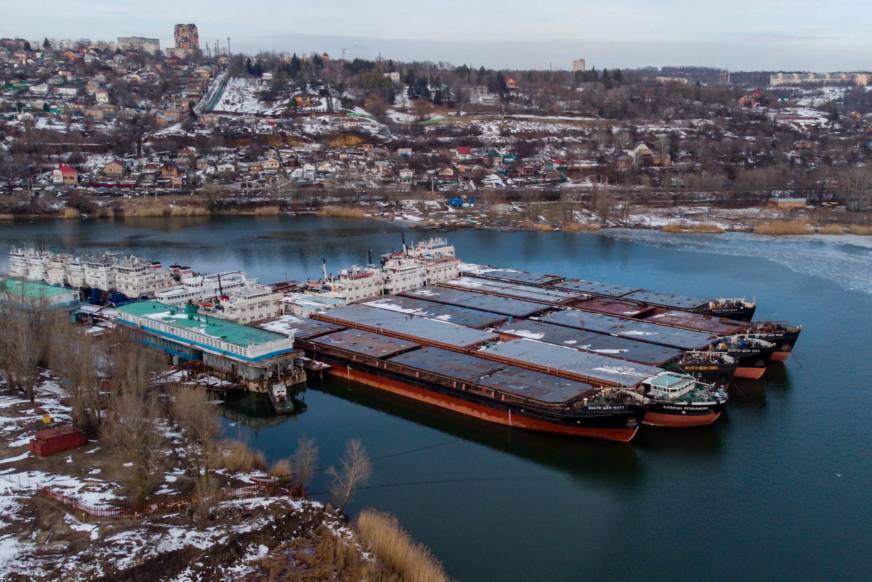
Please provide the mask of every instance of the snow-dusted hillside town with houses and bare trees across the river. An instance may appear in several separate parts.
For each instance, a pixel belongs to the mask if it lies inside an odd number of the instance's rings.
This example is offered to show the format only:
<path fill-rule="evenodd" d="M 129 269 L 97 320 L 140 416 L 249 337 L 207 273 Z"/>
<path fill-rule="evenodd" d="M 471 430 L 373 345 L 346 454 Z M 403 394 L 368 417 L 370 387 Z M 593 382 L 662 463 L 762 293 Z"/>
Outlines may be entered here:
<path fill-rule="evenodd" d="M 872 203 L 864 72 L 597 71 L 583 58 L 494 71 L 228 48 L 195 24 L 166 49 L 0 39 L 2 216 L 345 206 L 437 227 L 596 228 L 695 206 L 865 223 Z"/>

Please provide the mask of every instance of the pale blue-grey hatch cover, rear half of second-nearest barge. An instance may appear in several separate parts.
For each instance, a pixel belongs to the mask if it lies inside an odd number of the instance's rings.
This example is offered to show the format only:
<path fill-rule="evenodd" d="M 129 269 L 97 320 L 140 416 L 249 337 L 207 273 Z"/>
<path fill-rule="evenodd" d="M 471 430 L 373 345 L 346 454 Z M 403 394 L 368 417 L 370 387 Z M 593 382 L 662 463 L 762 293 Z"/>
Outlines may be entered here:
<path fill-rule="evenodd" d="M 467 349 L 498 339 L 495 333 L 483 332 L 439 319 L 419 318 L 366 305 L 344 305 L 313 316 L 321 321 L 383 333 L 422 344 Z"/>

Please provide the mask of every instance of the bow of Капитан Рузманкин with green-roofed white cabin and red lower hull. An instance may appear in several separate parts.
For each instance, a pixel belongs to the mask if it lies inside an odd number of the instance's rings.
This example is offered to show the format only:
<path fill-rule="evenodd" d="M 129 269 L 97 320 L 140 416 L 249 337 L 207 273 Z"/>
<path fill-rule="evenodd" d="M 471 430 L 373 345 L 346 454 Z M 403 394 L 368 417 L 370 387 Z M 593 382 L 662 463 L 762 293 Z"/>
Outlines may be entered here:
<path fill-rule="evenodd" d="M 657 427 L 701 427 L 718 420 L 727 401 L 722 388 L 693 380 L 684 373 L 663 372 L 643 380 L 651 400 L 643 424 Z"/>

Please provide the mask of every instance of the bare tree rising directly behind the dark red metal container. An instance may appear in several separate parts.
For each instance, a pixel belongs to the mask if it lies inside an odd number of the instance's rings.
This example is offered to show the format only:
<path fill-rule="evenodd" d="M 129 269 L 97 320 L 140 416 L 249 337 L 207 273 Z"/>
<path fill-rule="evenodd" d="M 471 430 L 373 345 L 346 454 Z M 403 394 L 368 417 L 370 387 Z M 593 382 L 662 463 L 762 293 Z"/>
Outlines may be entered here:
<path fill-rule="evenodd" d="M 99 340 L 81 333 L 65 318 L 52 318 L 49 364 L 60 376 L 61 386 L 72 404 L 78 427 L 88 435 L 99 435 L 100 412 Z"/>

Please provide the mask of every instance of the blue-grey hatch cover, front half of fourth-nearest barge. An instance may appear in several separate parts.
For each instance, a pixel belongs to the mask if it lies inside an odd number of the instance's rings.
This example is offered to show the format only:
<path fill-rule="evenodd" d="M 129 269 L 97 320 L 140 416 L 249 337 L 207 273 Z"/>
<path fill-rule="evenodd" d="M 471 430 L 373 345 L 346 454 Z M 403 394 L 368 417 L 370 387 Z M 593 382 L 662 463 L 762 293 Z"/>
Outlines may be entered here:
<path fill-rule="evenodd" d="M 564 309 L 536 318 L 549 324 L 565 325 L 588 332 L 606 333 L 620 338 L 637 339 L 648 344 L 675 347 L 679 350 L 706 350 L 719 336 L 707 332 L 651 324 L 635 319 L 613 318 L 598 313 Z"/>

